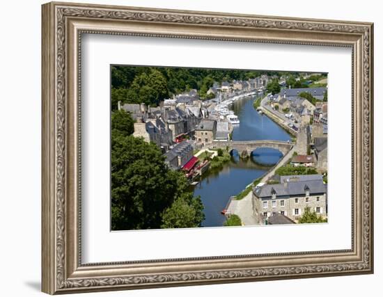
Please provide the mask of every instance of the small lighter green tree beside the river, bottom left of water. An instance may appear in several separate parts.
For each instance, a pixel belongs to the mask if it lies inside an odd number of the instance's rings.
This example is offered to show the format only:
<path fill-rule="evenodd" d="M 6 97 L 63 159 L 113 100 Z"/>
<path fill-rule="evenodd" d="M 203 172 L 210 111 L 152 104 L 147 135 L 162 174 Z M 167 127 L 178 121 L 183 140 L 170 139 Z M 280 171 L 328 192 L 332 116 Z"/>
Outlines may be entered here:
<path fill-rule="evenodd" d="M 203 204 L 200 196 L 194 198 L 192 193 L 182 193 L 164 211 L 162 228 L 191 228 L 201 227 L 205 219 Z"/>

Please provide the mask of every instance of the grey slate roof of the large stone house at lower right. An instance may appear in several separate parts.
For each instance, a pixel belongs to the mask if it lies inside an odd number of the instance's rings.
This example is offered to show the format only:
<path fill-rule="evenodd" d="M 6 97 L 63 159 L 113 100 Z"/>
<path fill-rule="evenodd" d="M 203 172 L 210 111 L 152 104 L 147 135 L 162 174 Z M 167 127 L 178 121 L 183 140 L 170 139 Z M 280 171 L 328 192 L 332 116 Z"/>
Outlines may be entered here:
<path fill-rule="evenodd" d="M 305 189 L 308 188 L 310 193 L 319 194 L 327 193 L 327 184 L 323 184 L 322 179 L 306 180 L 302 182 L 286 182 L 283 184 L 266 184 L 253 191 L 259 198 L 271 198 L 272 191 L 276 192 L 277 197 L 281 196 L 297 196 L 304 195 Z"/>

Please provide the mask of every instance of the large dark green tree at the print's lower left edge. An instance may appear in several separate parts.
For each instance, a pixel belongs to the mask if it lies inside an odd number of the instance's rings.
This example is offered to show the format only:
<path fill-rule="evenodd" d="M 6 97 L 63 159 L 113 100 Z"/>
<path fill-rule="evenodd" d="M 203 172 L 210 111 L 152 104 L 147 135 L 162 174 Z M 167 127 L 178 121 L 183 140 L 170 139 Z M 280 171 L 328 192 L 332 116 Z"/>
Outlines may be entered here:
<path fill-rule="evenodd" d="M 112 230 L 159 228 L 164 210 L 187 183 L 164 163 L 158 147 L 142 138 L 111 137 Z"/>

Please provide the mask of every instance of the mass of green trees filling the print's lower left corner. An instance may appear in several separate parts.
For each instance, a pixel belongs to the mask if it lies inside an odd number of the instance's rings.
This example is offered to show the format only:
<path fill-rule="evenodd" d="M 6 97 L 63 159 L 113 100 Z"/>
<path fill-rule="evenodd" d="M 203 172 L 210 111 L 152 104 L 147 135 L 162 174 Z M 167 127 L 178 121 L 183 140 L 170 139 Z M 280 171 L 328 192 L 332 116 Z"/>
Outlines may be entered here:
<path fill-rule="evenodd" d="M 204 218 L 182 172 L 170 170 L 159 148 L 132 135 L 125 111 L 111 122 L 111 228 L 198 227 Z"/>

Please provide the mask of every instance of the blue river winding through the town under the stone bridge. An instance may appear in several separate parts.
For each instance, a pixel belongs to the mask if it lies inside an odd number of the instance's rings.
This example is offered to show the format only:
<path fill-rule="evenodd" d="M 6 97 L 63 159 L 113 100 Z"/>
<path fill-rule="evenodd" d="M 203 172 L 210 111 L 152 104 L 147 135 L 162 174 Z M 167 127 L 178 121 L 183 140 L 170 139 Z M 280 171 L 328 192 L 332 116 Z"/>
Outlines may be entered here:
<path fill-rule="evenodd" d="M 290 140 L 285 130 L 253 108 L 253 99 L 254 97 L 240 99 L 232 106 L 235 115 L 240 119 L 240 125 L 233 129 L 233 141 Z M 278 150 L 262 148 L 255 150 L 251 158 L 243 161 L 237 152 L 233 152 L 233 157 L 224 168 L 210 170 L 203 176 L 194 187 L 194 195 L 200 195 L 204 205 L 203 227 L 224 225 L 226 217 L 221 214 L 221 210 L 226 207 L 230 196 L 237 195 L 254 179 L 267 172 L 267 166 L 277 163 L 281 156 Z"/>

